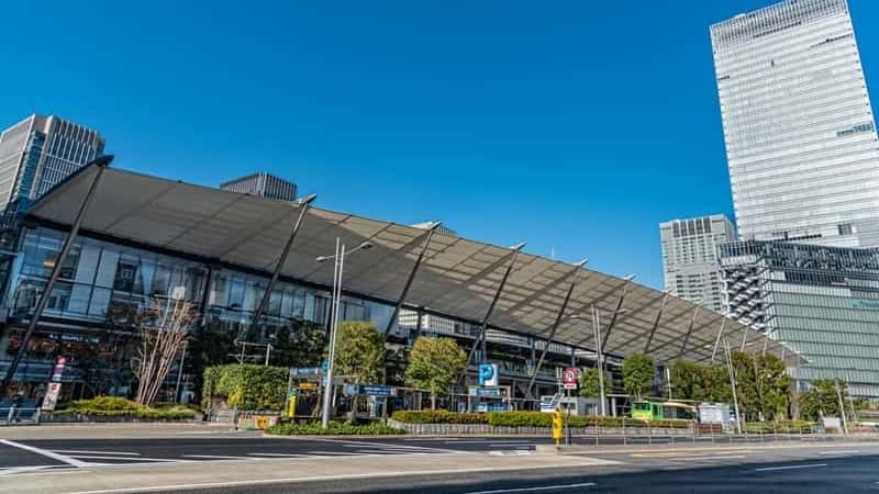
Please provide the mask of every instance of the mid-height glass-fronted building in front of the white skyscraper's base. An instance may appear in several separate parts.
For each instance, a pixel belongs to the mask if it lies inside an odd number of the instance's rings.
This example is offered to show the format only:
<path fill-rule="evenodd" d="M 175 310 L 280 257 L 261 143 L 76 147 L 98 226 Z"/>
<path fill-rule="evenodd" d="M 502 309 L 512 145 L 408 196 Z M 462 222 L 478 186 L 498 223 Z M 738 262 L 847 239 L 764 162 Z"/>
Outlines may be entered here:
<path fill-rule="evenodd" d="M 721 246 L 728 313 L 802 355 L 795 380 L 843 379 L 879 397 L 879 249 Z"/>

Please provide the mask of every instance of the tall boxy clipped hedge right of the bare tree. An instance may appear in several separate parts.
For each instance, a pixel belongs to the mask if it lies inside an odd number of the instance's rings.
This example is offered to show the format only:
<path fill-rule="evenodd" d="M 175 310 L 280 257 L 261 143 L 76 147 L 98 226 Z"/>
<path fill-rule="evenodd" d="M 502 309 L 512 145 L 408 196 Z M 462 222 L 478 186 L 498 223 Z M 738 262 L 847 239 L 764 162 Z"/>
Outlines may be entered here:
<path fill-rule="evenodd" d="M 287 398 L 287 368 L 231 363 L 204 369 L 201 405 L 210 406 L 212 396 L 223 396 L 231 407 L 275 409 Z"/>

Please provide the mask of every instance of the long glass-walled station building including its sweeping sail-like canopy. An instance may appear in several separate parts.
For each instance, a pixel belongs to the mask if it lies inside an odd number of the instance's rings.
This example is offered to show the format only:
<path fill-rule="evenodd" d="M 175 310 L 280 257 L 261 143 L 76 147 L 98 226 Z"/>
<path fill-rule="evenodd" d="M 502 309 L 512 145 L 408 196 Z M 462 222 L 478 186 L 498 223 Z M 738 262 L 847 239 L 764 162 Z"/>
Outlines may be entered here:
<path fill-rule="evenodd" d="M 301 322 L 326 325 L 333 263 L 316 258 L 332 255 L 337 238 L 372 246 L 345 259 L 341 318 L 372 322 L 399 348 L 421 334 L 455 337 L 471 353 L 465 384 L 476 382 L 477 363 L 498 363 L 518 407 L 556 392 L 556 368 L 592 367 L 598 352 L 611 368 L 642 351 L 659 364 L 720 362 L 723 344 L 733 341 L 736 349 L 795 360 L 780 344 L 709 308 L 583 263 L 526 254 L 521 245 L 320 209 L 311 198 L 279 201 L 91 165 L 16 224 L 4 268 L 0 373 L 22 345 L 87 198 L 13 389 L 34 392 L 56 356 L 88 348 L 93 358 L 70 362 L 62 398 L 89 395 L 94 375 L 116 375 L 113 369 L 129 366 L 121 349 L 136 337 L 126 328 L 137 312 L 175 289 L 201 314 L 200 341 L 192 343 L 199 351 L 215 338 L 270 341 Z M 432 332 L 419 323 L 427 316 L 452 324 Z M 103 388 L 125 393 L 130 385 Z"/>

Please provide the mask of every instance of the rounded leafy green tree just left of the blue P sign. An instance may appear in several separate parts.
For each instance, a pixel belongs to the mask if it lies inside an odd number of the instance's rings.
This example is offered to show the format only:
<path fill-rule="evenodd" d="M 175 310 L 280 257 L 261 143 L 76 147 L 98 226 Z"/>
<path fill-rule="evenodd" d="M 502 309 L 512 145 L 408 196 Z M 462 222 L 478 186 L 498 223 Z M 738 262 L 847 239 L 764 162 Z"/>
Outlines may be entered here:
<path fill-rule="evenodd" d="M 448 394 L 467 366 L 467 353 L 452 338 L 420 336 L 409 353 L 405 382 L 431 392 L 431 409 L 436 397 Z"/>

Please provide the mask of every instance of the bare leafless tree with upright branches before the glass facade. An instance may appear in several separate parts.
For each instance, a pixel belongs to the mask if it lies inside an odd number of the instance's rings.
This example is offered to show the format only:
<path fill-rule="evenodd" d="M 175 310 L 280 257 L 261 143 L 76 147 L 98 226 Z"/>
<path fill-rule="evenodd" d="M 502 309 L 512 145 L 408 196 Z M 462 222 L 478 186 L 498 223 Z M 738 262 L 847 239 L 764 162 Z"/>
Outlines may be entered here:
<path fill-rule="evenodd" d="M 148 406 L 156 400 L 189 338 L 196 317 L 192 303 L 182 297 L 151 299 L 149 307 L 140 321 L 141 345 L 132 360 L 138 380 L 137 403 Z"/>

